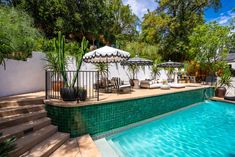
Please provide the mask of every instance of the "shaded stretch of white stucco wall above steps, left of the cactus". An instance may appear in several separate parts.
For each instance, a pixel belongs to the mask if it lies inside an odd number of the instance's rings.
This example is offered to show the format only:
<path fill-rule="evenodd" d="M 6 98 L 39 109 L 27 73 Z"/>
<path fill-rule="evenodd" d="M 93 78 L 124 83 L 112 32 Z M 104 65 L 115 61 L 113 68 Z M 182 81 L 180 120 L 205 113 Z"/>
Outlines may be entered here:
<path fill-rule="evenodd" d="M 0 97 L 44 90 L 43 53 L 33 52 L 27 61 L 9 59 L 6 70 L 0 66 Z"/>

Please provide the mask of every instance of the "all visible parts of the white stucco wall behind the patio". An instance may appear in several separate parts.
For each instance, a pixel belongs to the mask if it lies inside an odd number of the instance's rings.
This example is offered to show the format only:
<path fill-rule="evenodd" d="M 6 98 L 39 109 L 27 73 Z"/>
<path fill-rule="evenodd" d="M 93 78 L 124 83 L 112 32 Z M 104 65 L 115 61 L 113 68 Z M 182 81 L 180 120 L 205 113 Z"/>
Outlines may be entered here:
<path fill-rule="evenodd" d="M 0 66 L 0 97 L 45 90 L 44 66 L 46 61 L 43 60 L 44 57 L 43 53 L 33 52 L 32 57 L 27 61 L 7 60 L 6 70 Z M 74 63 L 71 58 L 69 70 L 76 70 Z M 96 69 L 93 64 L 83 63 L 81 70 L 94 71 Z M 120 77 L 121 80 L 129 82 L 130 72 L 120 63 L 112 63 L 109 64 L 109 78 L 112 77 Z M 144 70 L 140 68 L 137 78 L 139 80 L 151 79 L 151 67 L 146 66 Z M 167 78 L 164 70 L 161 71 L 160 78 Z"/>

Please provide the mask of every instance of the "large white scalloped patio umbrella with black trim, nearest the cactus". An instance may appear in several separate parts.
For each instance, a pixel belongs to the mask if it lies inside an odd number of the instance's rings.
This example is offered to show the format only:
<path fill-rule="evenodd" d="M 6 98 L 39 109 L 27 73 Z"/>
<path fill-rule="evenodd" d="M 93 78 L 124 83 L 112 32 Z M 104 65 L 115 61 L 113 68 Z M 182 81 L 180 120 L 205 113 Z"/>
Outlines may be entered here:
<path fill-rule="evenodd" d="M 119 63 L 129 58 L 130 54 L 126 51 L 104 46 L 85 54 L 83 61 L 86 63 Z"/>

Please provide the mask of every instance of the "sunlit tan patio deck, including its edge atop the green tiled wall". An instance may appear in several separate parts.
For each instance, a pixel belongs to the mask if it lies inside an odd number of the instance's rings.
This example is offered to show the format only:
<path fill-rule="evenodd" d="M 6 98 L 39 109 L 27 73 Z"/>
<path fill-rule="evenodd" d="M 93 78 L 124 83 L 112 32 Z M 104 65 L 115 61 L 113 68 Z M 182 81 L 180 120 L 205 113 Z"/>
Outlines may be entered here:
<path fill-rule="evenodd" d="M 76 101 L 64 102 L 62 100 L 56 100 L 56 99 L 48 99 L 48 100 L 44 100 L 44 102 L 50 105 L 61 106 L 61 107 L 75 107 L 75 106 L 86 106 L 86 105 L 95 105 L 95 104 L 98 105 L 98 104 L 106 103 L 106 102 L 115 102 L 115 101 L 136 99 L 136 98 L 142 98 L 142 97 L 151 97 L 151 96 L 183 92 L 183 91 L 209 87 L 208 85 L 191 84 L 191 83 L 187 83 L 185 85 L 186 85 L 185 88 L 171 88 L 169 90 L 162 90 L 159 88 L 158 89 L 132 89 L 132 92 L 127 93 L 127 94 L 100 93 L 99 101 L 97 101 L 97 99 L 94 98 L 94 99 L 89 99 L 86 101 L 79 101 L 79 103 L 77 103 Z"/>

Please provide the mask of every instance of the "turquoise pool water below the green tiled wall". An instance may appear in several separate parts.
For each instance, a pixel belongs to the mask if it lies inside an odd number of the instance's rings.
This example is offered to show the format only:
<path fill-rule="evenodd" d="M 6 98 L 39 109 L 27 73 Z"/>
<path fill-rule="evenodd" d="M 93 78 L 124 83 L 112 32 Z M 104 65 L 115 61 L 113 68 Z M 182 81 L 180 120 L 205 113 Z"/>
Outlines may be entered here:
<path fill-rule="evenodd" d="M 235 105 L 206 101 L 106 140 L 123 157 L 235 157 Z"/>

